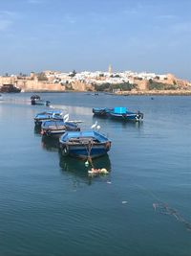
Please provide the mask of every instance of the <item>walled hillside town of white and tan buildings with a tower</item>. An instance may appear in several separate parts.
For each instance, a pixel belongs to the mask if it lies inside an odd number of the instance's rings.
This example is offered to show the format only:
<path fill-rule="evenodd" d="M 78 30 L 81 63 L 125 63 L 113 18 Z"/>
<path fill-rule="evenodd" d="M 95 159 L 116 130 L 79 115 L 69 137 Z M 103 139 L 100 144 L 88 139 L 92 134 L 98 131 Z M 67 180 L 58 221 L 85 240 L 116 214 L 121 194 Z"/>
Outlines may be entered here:
<path fill-rule="evenodd" d="M 147 72 L 31 72 L 30 75 L 0 76 L 0 89 L 13 84 L 22 92 L 105 91 L 116 94 L 183 94 L 190 93 L 191 82 L 176 78 L 172 74 Z"/>

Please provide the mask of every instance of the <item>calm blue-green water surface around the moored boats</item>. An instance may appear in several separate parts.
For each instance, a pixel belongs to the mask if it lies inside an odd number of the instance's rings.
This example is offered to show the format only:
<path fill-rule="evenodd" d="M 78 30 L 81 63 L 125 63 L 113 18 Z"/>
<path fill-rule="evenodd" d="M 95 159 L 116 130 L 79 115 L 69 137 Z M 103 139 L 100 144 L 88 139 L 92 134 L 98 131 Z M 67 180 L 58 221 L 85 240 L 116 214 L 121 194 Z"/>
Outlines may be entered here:
<path fill-rule="evenodd" d="M 96 120 L 112 139 L 95 160 L 109 175 L 90 177 L 84 162 L 42 141 L 31 94 L 0 102 L 0 254 L 191 255 L 190 97 L 41 94 L 54 107 Z M 92 107 L 126 105 L 142 124 L 94 118 Z"/>

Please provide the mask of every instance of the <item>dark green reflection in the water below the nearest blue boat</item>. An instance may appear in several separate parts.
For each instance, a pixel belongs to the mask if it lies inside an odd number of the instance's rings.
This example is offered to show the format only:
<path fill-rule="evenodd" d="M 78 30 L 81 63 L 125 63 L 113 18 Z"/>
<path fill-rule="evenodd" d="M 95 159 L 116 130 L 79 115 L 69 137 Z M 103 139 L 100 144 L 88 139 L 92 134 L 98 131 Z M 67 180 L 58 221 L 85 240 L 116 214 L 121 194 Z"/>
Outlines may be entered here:
<path fill-rule="evenodd" d="M 108 172 L 111 172 L 111 162 L 109 156 L 106 154 L 102 157 L 98 157 L 96 159 L 93 159 L 93 165 L 96 169 L 105 168 Z M 71 156 L 62 156 L 61 153 L 59 153 L 59 166 L 61 168 L 63 175 L 72 175 L 74 184 L 76 184 L 76 181 L 80 180 L 84 181 L 87 184 L 92 184 L 94 176 L 88 175 L 88 171 L 92 168 L 91 166 L 85 166 L 85 161 L 74 158 Z M 109 175 L 97 175 L 96 178 L 99 180 L 108 180 Z"/>

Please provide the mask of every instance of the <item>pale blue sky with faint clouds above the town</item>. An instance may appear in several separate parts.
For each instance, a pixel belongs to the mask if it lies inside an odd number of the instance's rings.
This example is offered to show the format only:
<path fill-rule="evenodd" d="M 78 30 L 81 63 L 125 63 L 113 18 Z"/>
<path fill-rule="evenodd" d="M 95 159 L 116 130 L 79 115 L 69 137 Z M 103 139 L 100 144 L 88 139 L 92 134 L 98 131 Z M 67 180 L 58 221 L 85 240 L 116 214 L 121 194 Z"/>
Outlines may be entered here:
<path fill-rule="evenodd" d="M 190 0 L 0 0 L 0 74 L 173 73 L 191 81 Z"/>

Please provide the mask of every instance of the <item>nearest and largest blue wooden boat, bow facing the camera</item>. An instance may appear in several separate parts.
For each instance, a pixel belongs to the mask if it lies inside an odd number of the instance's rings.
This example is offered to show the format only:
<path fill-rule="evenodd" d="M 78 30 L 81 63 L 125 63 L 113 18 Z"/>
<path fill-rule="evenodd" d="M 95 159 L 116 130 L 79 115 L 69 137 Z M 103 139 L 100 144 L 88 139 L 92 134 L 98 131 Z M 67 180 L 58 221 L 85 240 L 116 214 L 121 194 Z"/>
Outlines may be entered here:
<path fill-rule="evenodd" d="M 110 151 L 111 141 L 94 130 L 67 131 L 60 137 L 59 147 L 62 155 L 96 158 Z"/>

